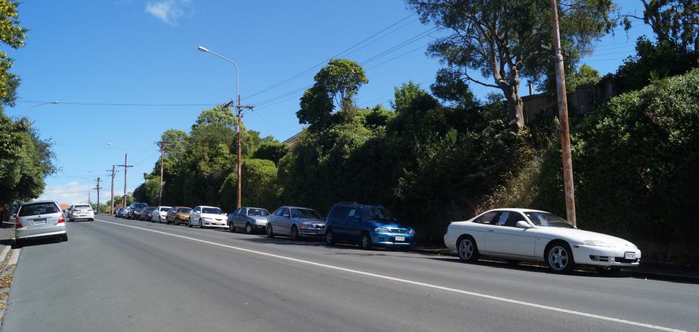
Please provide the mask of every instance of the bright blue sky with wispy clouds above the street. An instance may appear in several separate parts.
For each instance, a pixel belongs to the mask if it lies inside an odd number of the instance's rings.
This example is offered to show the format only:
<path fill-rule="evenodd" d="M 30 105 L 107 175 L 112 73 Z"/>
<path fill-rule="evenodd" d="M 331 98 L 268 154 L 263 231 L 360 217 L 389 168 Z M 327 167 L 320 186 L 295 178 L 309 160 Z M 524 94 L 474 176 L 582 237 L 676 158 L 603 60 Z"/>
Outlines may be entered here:
<path fill-rule="evenodd" d="M 642 13 L 637 3 L 620 1 L 624 11 Z M 233 66 L 197 51 L 199 45 L 237 63 L 242 102 L 256 105 L 245 124 L 280 141 L 302 129 L 299 97 L 328 58 L 340 54 L 363 65 L 369 84 L 359 91 L 362 107 L 388 107 L 402 82 L 428 88 L 440 67 L 424 54 L 439 32 L 419 23 L 402 0 L 25 1 L 19 15 L 30 31 L 25 47 L 8 51 L 22 83 L 6 114 L 28 114 L 54 141 L 61 171 L 47 179 L 42 198 L 60 203 L 87 201 L 98 176 L 105 200 L 105 170 L 123 163 L 124 153 L 134 165 L 132 191 L 152 170 L 163 131 L 189 131 L 202 110 L 234 97 Z M 607 36 L 583 63 L 602 75 L 614 72 L 642 34 L 648 27 L 636 22 L 628 33 Z M 481 98 L 492 91 L 472 89 Z M 61 103 L 29 111 L 43 101 Z M 115 192 L 123 192 L 123 170 Z"/>

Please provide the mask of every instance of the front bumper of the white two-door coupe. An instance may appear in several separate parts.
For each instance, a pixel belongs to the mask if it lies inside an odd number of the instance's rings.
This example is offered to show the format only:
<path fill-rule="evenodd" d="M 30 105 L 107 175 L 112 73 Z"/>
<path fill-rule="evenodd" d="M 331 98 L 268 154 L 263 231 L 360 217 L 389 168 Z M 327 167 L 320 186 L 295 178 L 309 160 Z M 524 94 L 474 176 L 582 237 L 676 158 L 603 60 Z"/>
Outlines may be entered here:
<path fill-rule="evenodd" d="M 641 263 L 641 250 L 633 248 L 608 248 L 593 245 L 573 245 L 573 257 L 576 264 L 602 267 L 637 267 Z M 632 259 L 626 259 L 624 253 L 633 253 Z"/>

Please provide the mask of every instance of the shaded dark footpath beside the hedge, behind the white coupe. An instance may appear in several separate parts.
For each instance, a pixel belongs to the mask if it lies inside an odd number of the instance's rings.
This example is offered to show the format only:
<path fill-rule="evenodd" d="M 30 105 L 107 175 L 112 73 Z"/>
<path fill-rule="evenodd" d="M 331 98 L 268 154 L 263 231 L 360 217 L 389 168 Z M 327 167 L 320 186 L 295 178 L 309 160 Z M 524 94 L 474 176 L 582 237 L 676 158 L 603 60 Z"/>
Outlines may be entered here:
<path fill-rule="evenodd" d="M 441 256 L 452 256 L 459 257 L 459 255 L 445 248 L 443 245 L 429 245 L 429 244 L 418 244 L 412 248 L 413 251 L 418 253 L 426 253 L 432 255 Z M 493 260 L 495 262 L 495 260 Z M 543 264 L 528 263 L 523 262 L 520 264 L 522 267 L 544 267 Z M 643 257 L 641 258 L 641 264 L 635 268 L 624 268 L 621 272 L 617 274 L 618 276 L 631 276 L 633 278 L 640 279 L 657 279 L 657 280 L 667 280 L 667 281 L 679 281 L 686 283 L 699 283 L 699 269 L 696 267 L 668 267 L 668 266 L 655 266 L 643 264 Z"/>

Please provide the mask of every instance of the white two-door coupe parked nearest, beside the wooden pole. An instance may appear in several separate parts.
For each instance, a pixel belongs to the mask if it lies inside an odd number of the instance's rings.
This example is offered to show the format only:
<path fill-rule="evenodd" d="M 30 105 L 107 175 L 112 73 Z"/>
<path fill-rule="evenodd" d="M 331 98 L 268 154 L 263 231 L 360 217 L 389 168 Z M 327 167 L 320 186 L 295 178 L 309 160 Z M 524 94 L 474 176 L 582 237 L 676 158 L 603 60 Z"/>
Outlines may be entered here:
<path fill-rule="evenodd" d="M 613 274 L 641 261 L 641 250 L 629 241 L 577 229 L 557 215 L 538 210 L 496 209 L 452 222 L 444 243 L 465 262 L 476 262 L 480 255 L 508 262 L 545 262 L 557 273 L 590 265 Z"/>

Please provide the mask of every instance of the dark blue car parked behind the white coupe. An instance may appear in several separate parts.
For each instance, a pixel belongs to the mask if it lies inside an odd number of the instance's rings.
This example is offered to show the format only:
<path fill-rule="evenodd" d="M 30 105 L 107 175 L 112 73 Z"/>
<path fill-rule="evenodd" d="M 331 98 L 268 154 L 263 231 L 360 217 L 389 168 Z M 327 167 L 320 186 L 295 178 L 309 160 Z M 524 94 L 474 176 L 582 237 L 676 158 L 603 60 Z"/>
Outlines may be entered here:
<path fill-rule="evenodd" d="M 326 219 L 326 243 L 359 243 L 361 248 L 410 248 L 415 243 L 415 230 L 400 224 L 381 205 L 338 203 Z"/>

